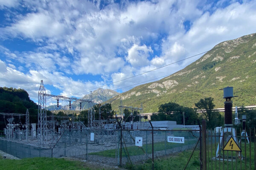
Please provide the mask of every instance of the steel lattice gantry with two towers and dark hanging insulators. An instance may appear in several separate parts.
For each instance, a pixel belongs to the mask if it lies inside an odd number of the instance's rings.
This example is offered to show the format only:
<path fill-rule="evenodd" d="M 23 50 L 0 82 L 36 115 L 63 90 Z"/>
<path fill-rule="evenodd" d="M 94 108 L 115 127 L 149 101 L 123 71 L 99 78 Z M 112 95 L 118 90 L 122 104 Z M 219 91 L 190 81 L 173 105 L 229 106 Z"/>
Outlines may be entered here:
<path fill-rule="evenodd" d="M 69 108 L 71 109 L 71 102 L 78 102 L 80 104 L 81 110 L 81 103 L 87 102 L 89 111 L 88 111 L 88 127 L 93 126 L 93 101 L 91 99 L 91 95 L 89 99 L 77 99 L 74 97 L 66 97 L 66 96 L 59 96 L 59 95 L 52 95 L 46 94 L 46 90 L 44 88 L 43 80 L 41 80 L 40 88 L 38 91 L 38 145 L 44 146 L 45 144 L 55 144 L 61 131 L 64 130 L 82 130 L 87 129 L 87 127 L 81 121 L 73 121 L 74 117 L 67 117 L 66 116 L 47 116 L 46 110 L 46 98 L 50 97 L 52 99 L 57 100 L 57 108 L 59 100 L 69 102 Z M 50 119 L 47 120 L 47 117 Z M 56 118 L 64 118 L 65 120 L 61 120 L 60 124 L 58 121 L 55 120 Z M 56 127 L 56 129 L 55 129 Z M 63 133 L 63 132 L 62 132 Z"/>

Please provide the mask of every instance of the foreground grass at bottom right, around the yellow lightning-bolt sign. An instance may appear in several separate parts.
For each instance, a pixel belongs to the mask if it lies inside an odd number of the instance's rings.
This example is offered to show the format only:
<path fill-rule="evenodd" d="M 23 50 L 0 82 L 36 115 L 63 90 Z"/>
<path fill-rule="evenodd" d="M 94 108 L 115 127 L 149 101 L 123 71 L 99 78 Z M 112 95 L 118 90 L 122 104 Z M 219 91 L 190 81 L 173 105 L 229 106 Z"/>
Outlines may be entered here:
<path fill-rule="evenodd" d="M 255 148 L 253 147 L 254 143 L 251 143 L 251 170 L 254 170 L 254 150 Z M 209 152 L 208 152 L 209 149 Z M 245 157 L 245 146 L 242 144 L 241 146 L 242 150 L 242 155 Z M 207 168 L 209 167 L 209 170 L 218 170 L 221 169 L 223 170 L 233 170 L 236 169 L 236 164 L 237 164 L 237 169 L 240 170 L 240 166 L 242 170 L 245 170 L 245 167 L 247 170 L 250 170 L 250 147 L 249 144 L 246 146 L 246 166 L 245 166 L 245 160 L 240 161 L 238 159 L 237 163 L 234 161 L 233 163 L 230 161 L 227 163 L 227 161 L 214 161 L 212 160 L 212 157 L 214 157 L 215 154 L 215 145 L 212 145 L 212 152 L 211 152 L 211 146 L 207 148 L 207 152 L 209 155 L 207 156 Z M 183 170 L 184 167 L 186 166 L 186 163 L 192 153 L 192 150 L 186 150 L 181 153 L 178 153 L 176 155 L 168 156 L 168 157 L 163 157 L 163 158 L 157 158 L 154 160 L 154 170 Z M 231 152 L 229 153 L 231 155 Z M 211 156 L 213 155 L 213 156 Z M 227 153 L 225 153 L 227 155 Z M 233 153 L 233 156 L 235 156 L 235 153 Z M 216 166 L 215 166 L 216 162 Z M 219 166 L 220 163 L 220 166 Z M 233 164 L 233 167 L 232 167 Z M 152 168 L 152 161 L 148 160 L 144 164 L 138 164 L 131 166 L 131 164 L 126 164 L 127 169 L 131 170 L 149 170 Z M 189 161 L 189 164 L 186 168 L 187 170 L 198 170 L 200 169 L 200 163 L 199 163 L 199 150 L 195 150 L 191 160 Z"/>

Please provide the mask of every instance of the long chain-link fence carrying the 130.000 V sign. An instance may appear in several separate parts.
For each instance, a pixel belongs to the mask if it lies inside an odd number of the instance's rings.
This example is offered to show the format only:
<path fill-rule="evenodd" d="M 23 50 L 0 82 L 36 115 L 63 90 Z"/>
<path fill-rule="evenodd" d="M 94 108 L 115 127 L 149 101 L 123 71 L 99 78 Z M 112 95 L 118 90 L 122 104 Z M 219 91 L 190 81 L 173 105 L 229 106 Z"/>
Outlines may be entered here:
<path fill-rule="evenodd" d="M 121 135 L 122 134 L 122 135 Z M 18 158 L 31 157 L 75 157 L 82 160 L 96 161 L 113 166 L 139 164 L 154 158 L 192 149 L 199 138 L 196 130 L 62 130 L 49 134 L 47 144 L 38 147 L 0 138 L 0 150 Z M 168 137 L 183 137 L 183 142 L 168 141 Z M 136 146 L 136 139 L 142 139 L 141 146 Z M 55 139 L 52 139 L 55 138 Z M 178 138 L 177 138 L 178 139 Z"/>

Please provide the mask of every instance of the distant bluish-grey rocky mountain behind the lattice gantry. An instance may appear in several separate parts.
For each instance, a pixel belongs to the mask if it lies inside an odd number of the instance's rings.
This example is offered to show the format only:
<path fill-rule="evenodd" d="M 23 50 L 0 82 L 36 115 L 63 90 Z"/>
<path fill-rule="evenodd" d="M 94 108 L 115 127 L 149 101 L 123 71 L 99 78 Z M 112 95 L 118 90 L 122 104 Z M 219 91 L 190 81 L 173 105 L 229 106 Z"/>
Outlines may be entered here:
<path fill-rule="evenodd" d="M 103 89 L 103 88 L 98 88 L 97 90 L 92 92 L 92 98 L 93 98 L 93 103 L 94 104 L 99 104 L 102 102 L 107 101 L 108 99 L 111 99 L 112 97 L 118 95 L 119 93 L 110 89 Z M 90 94 L 84 95 L 81 99 L 89 99 Z M 87 103 L 82 103 L 82 108 L 87 109 Z M 54 110 L 69 110 L 69 105 L 64 105 L 57 108 L 57 105 L 51 105 L 47 106 L 47 110 L 49 111 L 54 111 Z M 80 111 L 80 104 L 77 102 L 74 102 L 71 104 L 71 109 L 74 111 Z"/>

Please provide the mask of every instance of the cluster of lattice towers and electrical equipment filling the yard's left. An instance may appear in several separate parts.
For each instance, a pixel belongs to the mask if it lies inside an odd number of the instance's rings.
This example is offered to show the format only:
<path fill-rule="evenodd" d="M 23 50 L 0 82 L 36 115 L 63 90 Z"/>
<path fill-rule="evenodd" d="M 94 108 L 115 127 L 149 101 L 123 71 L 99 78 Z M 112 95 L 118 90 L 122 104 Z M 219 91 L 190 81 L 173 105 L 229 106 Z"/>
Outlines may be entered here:
<path fill-rule="evenodd" d="M 82 103 L 87 103 L 88 105 L 88 125 L 85 126 L 80 120 L 74 116 L 58 116 L 58 115 L 47 115 L 47 97 L 55 99 L 57 101 L 57 108 L 59 107 L 60 101 L 66 101 L 69 103 L 69 108 L 71 109 L 71 103 L 79 103 L 80 111 Z M 120 121 L 121 117 L 115 116 L 115 119 L 111 116 L 107 116 L 106 119 L 102 117 L 101 108 L 99 107 L 99 119 L 95 119 L 94 102 L 92 93 L 89 95 L 89 99 L 77 99 L 75 97 L 67 97 L 60 95 L 52 95 L 46 93 L 46 88 L 44 87 L 44 82 L 41 80 L 40 88 L 38 91 L 38 124 L 29 123 L 29 111 L 26 114 L 18 113 L 0 113 L 3 115 L 4 120 L 6 119 L 8 123 L 4 129 L 6 139 L 9 141 L 20 142 L 24 144 L 39 146 L 39 147 L 53 147 L 61 139 L 61 136 L 65 133 L 66 136 L 62 136 L 65 140 L 76 141 L 73 143 L 84 143 L 87 140 L 89 133 L 94 133 L 93 144 L 106 143 L 108 141 L 109 145 L 114 143 L 116 140 L 115 131 L 118 129 L 117 121 Z M 122 121 L 121 126 L 125 129 L 133 129 L 133 121 L 135 116 L 134 111 L 143 112 L 143 108 L 135 108 L 132 106 L 123 106 L 122 99 L 119 105 L 120 114 L 122 115 L 123 109 L 127 108 L 131 110 L 130 116 L 126 119 L 130 119 L 126 123 Z M 111 111 L 109 111 L 111 112 Z M 26 116 L 26 123 L 23 125 L 20 120 L 20 116 Z M 138 114 L 137 116 L 140 116 Z M 16 119 L 15 119 L 16 118 Z M 122 117 L 124 118 L 124 116 Z M 119 120 L 118 120 L 119 119 Z M 18 121 L 16 121 L 18 120 Z M 16 121 L 16 122 L 15 122 Z M 141 116 L 140 116 L 140 123 Z M 138 126 L 137 122 L 137 126 Z M 143 126 L 141 126 L 143 127 Z M 137 127 L 136 127 L 137 128 Z M 64 140 L 61 139 L 61 140 Z M 80 140 L 79 140 L 80 139 Z M 77 141 L 79 140 L 79 141 Z M 61 141 L 60 141 L 61 142 Z M 72 143 L 72 142 L 71 142 Z M 70 144 L 71 144 L 70 143 Z M 113 144 L 112 144 L 113 145 Z"/>

